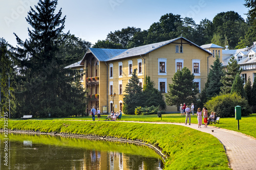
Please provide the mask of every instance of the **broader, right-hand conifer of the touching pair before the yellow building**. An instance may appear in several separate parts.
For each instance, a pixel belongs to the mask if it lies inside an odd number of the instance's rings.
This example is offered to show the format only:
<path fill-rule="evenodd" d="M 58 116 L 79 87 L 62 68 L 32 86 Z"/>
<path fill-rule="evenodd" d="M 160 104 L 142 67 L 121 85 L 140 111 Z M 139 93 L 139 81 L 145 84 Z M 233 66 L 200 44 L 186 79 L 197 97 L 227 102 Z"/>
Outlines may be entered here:
<path fill-rule="evenodd" d="M 143 107 L 151 107 L 151 106 L 160 106 L 161 110 L 166 109 L 166 104 L 163 99 L 162 93 L 154 88 L 155 83 L 154 81 L 151 81 L 150 76 L 145 77 L 145 83 L 143 85 L 143 102 L 144 104 L 142 105 Z"/>

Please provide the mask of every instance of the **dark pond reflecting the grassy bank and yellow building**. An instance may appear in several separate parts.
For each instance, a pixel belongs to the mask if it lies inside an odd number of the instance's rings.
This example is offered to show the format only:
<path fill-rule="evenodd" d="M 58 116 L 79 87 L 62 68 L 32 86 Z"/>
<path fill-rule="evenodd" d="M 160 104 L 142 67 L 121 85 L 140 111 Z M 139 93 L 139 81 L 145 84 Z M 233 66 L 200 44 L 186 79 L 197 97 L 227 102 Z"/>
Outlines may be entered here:
<path fill-rule="evenodd" d="M 163 168 L 162 158 L 154 150 L 131 143 L 38 134 L 8 137 L 7 147 L 1 135 L 0 169 Z"/>

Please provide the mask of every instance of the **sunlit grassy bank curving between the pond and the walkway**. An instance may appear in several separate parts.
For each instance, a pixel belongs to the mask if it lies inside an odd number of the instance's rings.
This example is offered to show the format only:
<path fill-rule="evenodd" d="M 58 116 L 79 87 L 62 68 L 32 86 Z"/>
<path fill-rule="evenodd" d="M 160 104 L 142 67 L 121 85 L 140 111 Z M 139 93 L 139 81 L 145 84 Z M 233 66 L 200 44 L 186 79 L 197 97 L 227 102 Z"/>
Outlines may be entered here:
<path fill-rule="evenodd" d="M 3 121 L 0 126 L 4 127 Z M 9 120 L 8 128 L 140 139 L 162 149 L 168 156 L 166 169 L 229 169 L 223 145 L 217 138 L 183 126 L 103 121 Z"/>

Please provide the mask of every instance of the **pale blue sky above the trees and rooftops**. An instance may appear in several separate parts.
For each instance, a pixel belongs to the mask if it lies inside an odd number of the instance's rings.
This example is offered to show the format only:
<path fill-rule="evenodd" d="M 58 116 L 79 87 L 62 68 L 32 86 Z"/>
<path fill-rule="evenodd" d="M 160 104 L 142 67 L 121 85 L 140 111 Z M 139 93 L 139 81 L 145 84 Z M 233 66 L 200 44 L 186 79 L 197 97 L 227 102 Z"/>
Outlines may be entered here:
<path fill-rule="evenodd" d="M 37 0 L 0 0 L 0 37 L 16 45 L 16 33 L 22 40 L 28 38 L 28 23 L 25 19 Z M 166 13 L 192 17 L 196 23 L 207 18 L 212 20 L 218 13 L 235 11 L 243 18 L 248 9 L 244 0 L 59 0 L 56 12 L 62 8 L 67 16 L 64 32 L 93 44 L 103 40 L 111 31 L 126 27 L 147 30 Z"/>

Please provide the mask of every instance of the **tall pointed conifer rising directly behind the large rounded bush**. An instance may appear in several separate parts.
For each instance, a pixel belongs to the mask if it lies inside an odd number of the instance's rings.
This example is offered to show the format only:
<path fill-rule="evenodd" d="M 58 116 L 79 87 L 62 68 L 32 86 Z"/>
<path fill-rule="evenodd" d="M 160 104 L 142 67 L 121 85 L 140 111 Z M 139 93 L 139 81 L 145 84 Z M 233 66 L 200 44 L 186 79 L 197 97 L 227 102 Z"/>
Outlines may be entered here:
<path fill-rule="evenodd" d="M 234 78 L 236 78 L 237 74 L 240 75 L 241 72 L 242 68 L 240 68 L 240 65 L 234 56 L 232 56 L 227 65 L 227 71 L 225 72 L 226 76 L 221 78 L 221 83 L 223 84 L 221 87 L 222 94 L 230 93 Z"/>

